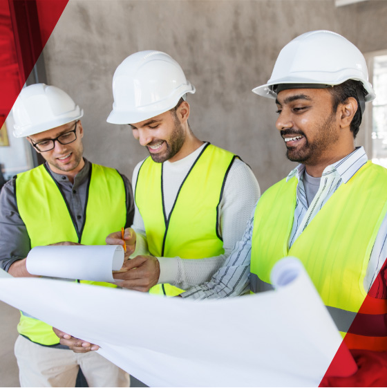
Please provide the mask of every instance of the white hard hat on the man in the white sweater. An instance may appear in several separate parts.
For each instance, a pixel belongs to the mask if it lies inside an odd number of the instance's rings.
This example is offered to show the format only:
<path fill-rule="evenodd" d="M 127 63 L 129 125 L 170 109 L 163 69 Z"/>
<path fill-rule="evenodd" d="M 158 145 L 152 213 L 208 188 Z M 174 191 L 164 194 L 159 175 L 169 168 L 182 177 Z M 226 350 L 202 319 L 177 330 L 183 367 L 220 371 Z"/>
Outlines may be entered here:
<path fill-rule="evenodd" d="M 113 75 L 113 111 L 107 122 L 131 124 L 176 107 L 186 93 L 195 93 L 182 68 L 155 50 L 129 55 Z"/>

